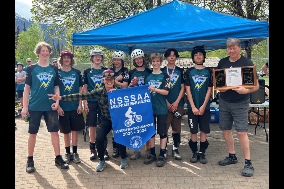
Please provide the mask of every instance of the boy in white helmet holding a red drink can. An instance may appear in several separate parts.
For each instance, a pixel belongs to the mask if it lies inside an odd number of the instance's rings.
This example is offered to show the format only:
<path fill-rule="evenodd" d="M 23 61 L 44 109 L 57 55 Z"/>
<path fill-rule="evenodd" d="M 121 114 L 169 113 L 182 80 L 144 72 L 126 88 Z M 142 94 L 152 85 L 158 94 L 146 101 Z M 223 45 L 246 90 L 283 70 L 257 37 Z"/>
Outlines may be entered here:
<path fill-rule="evenodd" d="M 133 59 L 133 65 L 135 68 L 129 72 L 129 81 L 130 84 L 128 87 L 134 87 L 139 85 L 145 85 L 145 76 L 150 74 L 152 71 L 149 68 L 144 67 L 146 65 L 146 58 L 144 57 L 144 53 L 141 49 L 135 49 L 131 53 L 131 58 Z M 134 79 L 134 77 L 138 77 L 138 81 Z M 131 160 L 135 160 L 141 157 L 141 149 L 134 150 L 134 154 L 130 157 Z M 145 146 L 145 154 L 148 157 L 150 154 L 150 144 L 149 141 L 146 142 Z"/>

